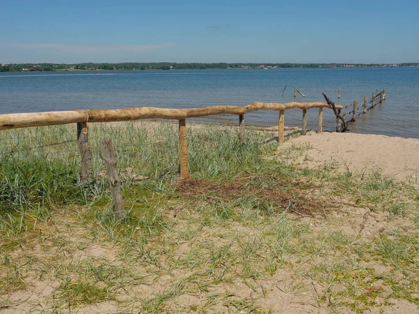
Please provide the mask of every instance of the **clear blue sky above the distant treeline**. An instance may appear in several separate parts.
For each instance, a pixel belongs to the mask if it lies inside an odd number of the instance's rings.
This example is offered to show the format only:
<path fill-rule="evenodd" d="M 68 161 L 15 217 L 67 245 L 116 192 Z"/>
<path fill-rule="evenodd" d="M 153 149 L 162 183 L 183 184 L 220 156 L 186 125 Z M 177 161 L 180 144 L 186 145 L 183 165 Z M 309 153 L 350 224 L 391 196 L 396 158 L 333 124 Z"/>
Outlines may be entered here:
<path fill-rule="evenodd" d="M 0 63 L 419 62 L 419 1 L 0 3 Z"/>

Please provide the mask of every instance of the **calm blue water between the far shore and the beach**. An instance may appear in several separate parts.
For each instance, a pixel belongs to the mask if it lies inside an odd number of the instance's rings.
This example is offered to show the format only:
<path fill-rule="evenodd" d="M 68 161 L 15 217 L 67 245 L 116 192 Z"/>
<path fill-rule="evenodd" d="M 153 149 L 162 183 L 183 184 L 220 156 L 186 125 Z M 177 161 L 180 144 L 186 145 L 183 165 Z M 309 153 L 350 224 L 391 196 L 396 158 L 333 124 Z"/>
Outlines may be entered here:
<path fill-rule="evenodd" d="M 362 104 L 364 96 L 385 89 L 385 103 L 359 117 L 351 132 L 419 138 L 419 68 L 0 73 L 0 113 L 285 103 L 293 101 L 293 87 L 307 96 L 297 95 L 297 101 L 323 101 L 324 92 L 344 105 Z M 301 110 L 286 111 L 286 126 L 300 126 L 301 115 Z M 316 119 L 317 110 L 309 110 L 309 127 L 316 128 Z M 247 124 L 260 126 L 277 125 L 277 120 L 277 112 L 246 116 Z M 332 110 L 325 110 L 325 129 L 335 124 Z"/>

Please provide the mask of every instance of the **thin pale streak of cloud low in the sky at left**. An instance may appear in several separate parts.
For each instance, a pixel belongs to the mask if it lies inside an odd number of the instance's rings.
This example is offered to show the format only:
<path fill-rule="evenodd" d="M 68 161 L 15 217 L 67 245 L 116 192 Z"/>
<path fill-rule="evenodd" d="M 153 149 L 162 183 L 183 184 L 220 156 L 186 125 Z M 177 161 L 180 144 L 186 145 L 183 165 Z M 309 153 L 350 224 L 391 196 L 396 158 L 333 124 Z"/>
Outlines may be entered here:
<path fill-rule="evenodd" d="M 10 48 L 24 50 L 42 50 L 71 54 L 106 54 L 115 52 L 145 52 L 161 50 L 175 45 L 174 43 L 161 43 L 156 45 L 81 45 L 81 44 L 54 44 L 54 43 L 13 43 Z"/>

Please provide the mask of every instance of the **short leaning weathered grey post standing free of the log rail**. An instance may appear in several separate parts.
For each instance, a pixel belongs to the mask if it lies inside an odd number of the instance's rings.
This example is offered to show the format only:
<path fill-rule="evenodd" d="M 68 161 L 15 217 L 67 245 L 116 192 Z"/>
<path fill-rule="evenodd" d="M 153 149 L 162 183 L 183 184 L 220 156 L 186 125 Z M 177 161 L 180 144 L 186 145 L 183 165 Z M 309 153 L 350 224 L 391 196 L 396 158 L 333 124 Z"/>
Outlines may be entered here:
<path fill-rule="evenodd" d="M 103 159 L 106 164 L 106 172 L 108 172 L 108 180 L 110 193 L 112 194 L 112 208 L 115 218 L 122 219 L 125 217 L 125 207 L 122 200 L 121 181 L 119 180 L 117 161 L 115 160 L 115 149 L 110 138 L 102 140 Z"/>

